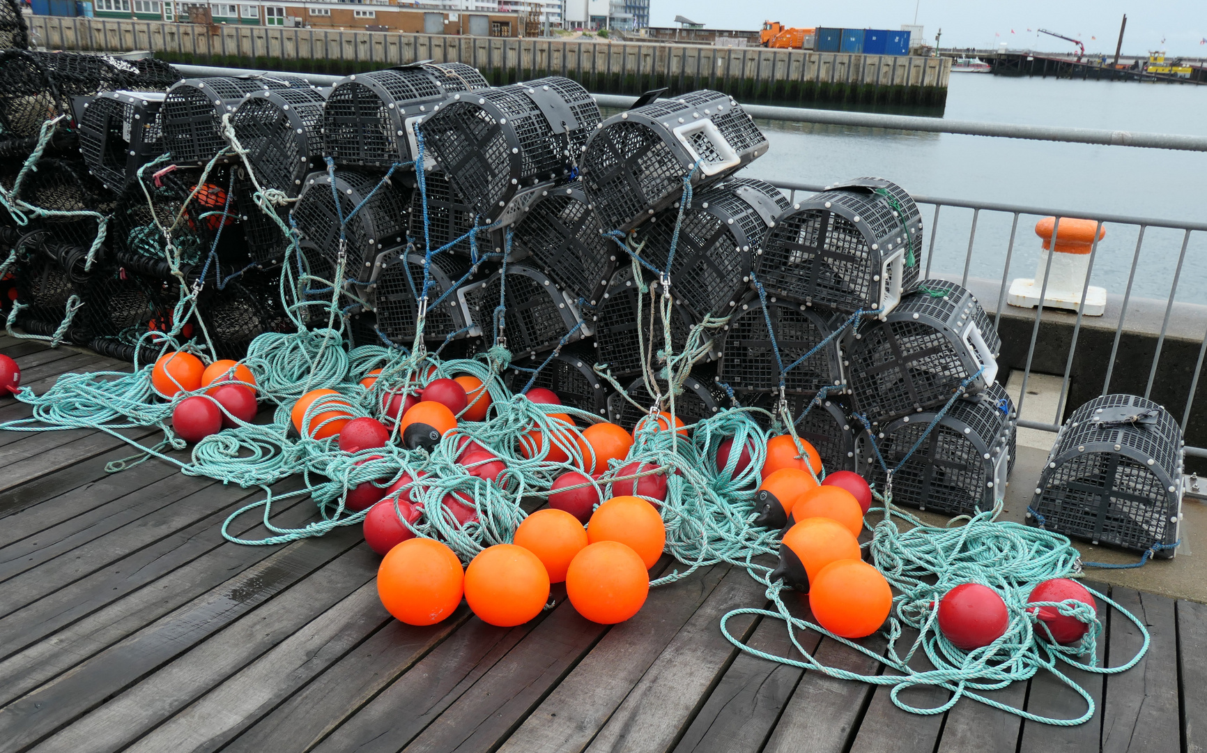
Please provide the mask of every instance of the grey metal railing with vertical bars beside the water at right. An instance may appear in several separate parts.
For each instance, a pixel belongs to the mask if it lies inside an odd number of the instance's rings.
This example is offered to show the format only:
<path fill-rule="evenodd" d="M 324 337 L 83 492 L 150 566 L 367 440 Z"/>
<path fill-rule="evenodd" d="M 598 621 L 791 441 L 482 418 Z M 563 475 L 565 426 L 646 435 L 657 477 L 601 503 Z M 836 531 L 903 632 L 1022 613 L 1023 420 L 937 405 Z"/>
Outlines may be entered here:
<path fill-rule="evenodd" d="M 781 191 L 786 191 L 788 193 L 789 200 L 793 203 L 795 203 L 797 200 L 798 192 L 816 193 L 818 191 L 826 189 L 826 186 L 814 185 L 814 183 L 799 183 L 799 182 L 787 182 L 777 180 L 770 180 L 768 182 L 776 186 Z M 940 218 L 943 216 L 941 210 L 944 208 L 972 210 L 973 212 L 972 222 L 967 237 L 967 251 L 963 255 L 964 259 L 962 269 L 958 269 L 960 282 L 966 287 L 969 284 L 969 272 L 972 270 L 972 264 L 973 264 L 973 249 L 976 241 L 976 228 L 978 224 L 980 224 L 982 212 L 999 212 L 1009 218 L 1010 234 L 1009 239 L 1003 244 L 1005 256 L 1004 256 L 1002 276 L 997 285 L 997 304 L 993 309 L 995 327 L 1001 327 L 1003 314 L 1008 311 L 1005 308 L 1007 305 L 1009 305 L 1007 304 L 1007 288 L 1010 285 L 1011 262 L 1014 261 L 1015 250 L 1018 245 L 1016 240 L 1018 240 L 1020 218 L 1024 216 L 1057 217 L 1056 227 L 1053 228 L 1054 237 L 1059 232 L 1060 228 L 1059 218 L 1061 217 L 1077 217 L 1097 222 L 1094 237 L 1095 240 L 1090 249 L 1089 272 L 1086 273 L 1085 285 L 1083 286 L 1080 296 L 1081 303 L 1079 304 L 1075 313 L 1075 320 L 1072 325 L 1072 333 L 1069 337 L 1067 355 L 1065 357 L 1065 367 L 1061 379 L 1061 391 L 1060 391 L 1060 397 L 1057 398 L 1056 402 L 1056 410 L 1054 411 L 1050 422 L 1024 420 L 1024 419 L 1019 420 L 1019 426 L 1022 426 L 1025 428 L 1048 431 L 1048 432 L 1060 431 L 1060 425 L 1063 422 L 1065 409 L 1071 391 L 1069 390 L 1071 380 L 1074 378 L 1073 374 L 1074 355 L 1077 354 L 1078 342 L 1083 332 L 1086 292 L 1089 291 L 1090 281 L 1094 276 L 1095 261 L 1100 257 L 1100 247 L 1098 247 L 1100 232 L 1107 223 L 1110 223 L 1112 226 L 1133 227 L 1137 230 L 1136 233 L 1137 241 L 1131 258 L 1131 267 L 1127 274 L 1126 290 L 1124 292 L 1123 302 L 1119 308 L 1119 321 L 1114 327 L 1114 334 L 1110 345 L 1110 355 L 1106 363 L 1106 375 L 1102 380 L 1102 389 L 1101 391 L 1095 391 L 1095 393 L 1091 397 L 1097 397 L 1098 395 L 1109 393 L 1112 381 L 1115 378 L 1115 364 L 1116 361 L 1119 360 L 1120 344 L 1123 342 L 1124 335 L 1129 332 L 1126 328 L 1127 313 L 1129 309 L 1135 304 L 1133 287 L 1137 279 L 1137 269 L 1139 267 L 1141 253 L 1144 247 L 1145 230 L 1149 228 L 1170 228 L 1174 230 L 1180 230 L 1182 243 L 1180 243 L 1180 250 L 1178 252 L 1177 267 L 1171 281 L 1170 294 L 1165 300 L 1165 314 L 1161 320 L 1160 333 L 1156 335 L 1155 352 L 1149 364 L 1148 378 L 1144 385 L 1144 392 L 1143 392 L 1144 397 L 1150 398 L 1153 396 L 1154 386 L 1156 385 L 1162 350 L 1165 349 L 1167 340 L 1170 321 L 1173 315 L 1176 305 L 1174 297 L 1178 291 L 1178 284 L 1182 279 L 1183 270 L 1185 269 L 1186 251 L 1190 247 L 1191 233 L 1201 233 L 1205 234 L 1203 237 L 1207 237 L 1207 222 L 1185 222 L 1178 220 L 1160 220 L 1154 217 L 1132 217 L 1125 215 L 1113 215 L 1106 212 L 1092 212 L 1092 211 L 1080 211 L 1080 210 L 1063 211 L 1063 210 L 1054 210 L 1051 208 L 1037 208 L 1037 206 L 1001 204 L 991 202 L 973 202 L 967 199 L 941 198 L 941 197 L 921 195 L 921 194 L 914 194 L 914 200 L 920 205 L 920 209 L 921 206 L 933 206 L 933 212 L 929 214 L 928 227 L 926 227 L 925 229 L 925 232 L 929 234 L 928 252 L 926 256 L 926 262 L 925 262 L 926 267 L 923 273 L 923 276 L 926 278 L 929 278 L 933 273 L 937 275 L 951 275 L 954 279 L 957 272 L 956 269 L 934 269 L 934 270 L 932 269 L 932 265 L 934 264 L 935 259 L 935 239 L 939 237 Z M 1040 299 L 1043 299 L 1044 294 L 1048 291 L 1048 281 L 1049 281 L 1049 275 L 1051 273 L 1051 261 L 1054 256 L 1055 253 L 1048 255 L 1048 263 L 1044 269 L 1043 282 L 1040 286 L 1042 288 Z M 1036 346 L 1039 340 L 1040 325 L 1048 321 L 1044 319 L 1044 313 L 1045 309 L 1042 304 L 1034 308 L 1033 314 L 1031 313 L 1030 309 L 1019 307 L 1013 307 L 1013 311 L 1010 311 L 1010 316 L 1013 319 L 1020 319 L 1026 316 L 1031 316 L 1032 319 L 1030 343 L 1026 350 L 1026 362 L 1022 369 L 1024 370 L 1022 384 L 1020 387 L 1019 401 L 1016 405 L 1020 416 L 1022 415 L 1024 404 L 1027 398 L 1027 381 L 1031 379 L 1032 368 L 1034 366 Z M 1048 313 L 1051 315 L 1053 310 L 1049 308 Z M 1060 314 L 1060 316 L 1069 316 L 1069 315 L 1072 315 L 1072 311 Z M 1049 319 L 1055 319 L 1055 317 L 1050 316 Z M 1207 316 L 1203 317 L 1203 321 L 1207 322 Z M 1199 344 L 1197 361 L 1195 362 L 1194 370 L 1190 374 L 1189 387 L 1185 390 L 1185 402 L 1183 405 L 1182 421 L 1180 421 L 1183 433 L 1186 432 L 1186 426 L 1190 421 L 1191 409 L 1195 403 L 1195 392 L 1199 389 L 1199 379 L 1202 373 L 1205 356 L 1207 356 L 1207 329 L 1203 331 L 1202 339 Z M 1207 449 L 1205 448 L 1193 446 L 1188 442 L 1185 449 L 1188 455 L 1193 455 L 1196 457 L 1207 457 Z"/>

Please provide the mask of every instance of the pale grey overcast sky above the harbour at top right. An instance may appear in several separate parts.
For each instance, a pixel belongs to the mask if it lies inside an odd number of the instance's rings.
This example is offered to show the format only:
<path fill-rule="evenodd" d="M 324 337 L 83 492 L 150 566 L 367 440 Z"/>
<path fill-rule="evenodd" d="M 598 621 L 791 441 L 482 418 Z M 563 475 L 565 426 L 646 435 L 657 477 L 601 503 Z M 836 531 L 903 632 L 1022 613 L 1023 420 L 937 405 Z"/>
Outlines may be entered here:
<path fill-rule="evenodd" d="M 1073 46 L 1043 36 L 1044 28 L 1080 39 L 1089 52 L 1114 53 L 1119 21 L 1127 13 L 1125 54 L 1143 54 L 1164 48 L 1171 54 L 1207 57 L 1207 2 L 1203 0 L 921 0 L 917 23 L 934 43 L 943 28 L 943 45 L 990 47 L 1008 42 L 1011 47 L 1060 52 Z M 764 21 L 794 27 L 847 27 L 897 29 L 914 23 L 914 0 L 862 0 L 861 2 L 801 2 L 800 0 L 651 0 L 649 22 L 674 25 L 676 14 L 716 29 L 758 29 Z M 1010 34 L 1010 30 L 1014 34 Z M 1031 33 L 1027 33 L 1031 29 Z M 1001 36 L 995 36 L 999 34 Z M 1091 40 L 1096 36 L 1097 40 Z"/>

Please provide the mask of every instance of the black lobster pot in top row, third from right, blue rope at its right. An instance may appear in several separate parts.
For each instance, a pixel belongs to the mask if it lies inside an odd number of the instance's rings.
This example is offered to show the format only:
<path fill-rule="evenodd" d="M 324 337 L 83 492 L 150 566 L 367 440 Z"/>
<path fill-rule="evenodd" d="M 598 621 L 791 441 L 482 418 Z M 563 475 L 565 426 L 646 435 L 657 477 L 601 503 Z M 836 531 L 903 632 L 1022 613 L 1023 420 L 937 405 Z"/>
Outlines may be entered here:
<path fill-rule="evenodd" d="M 465 63 L 416 63 L 342 78 L 327 97 L 325 153 L 339 165 L 389 168 L 414 162 L 415 123 L 453 93 L 489 87 Z"/>

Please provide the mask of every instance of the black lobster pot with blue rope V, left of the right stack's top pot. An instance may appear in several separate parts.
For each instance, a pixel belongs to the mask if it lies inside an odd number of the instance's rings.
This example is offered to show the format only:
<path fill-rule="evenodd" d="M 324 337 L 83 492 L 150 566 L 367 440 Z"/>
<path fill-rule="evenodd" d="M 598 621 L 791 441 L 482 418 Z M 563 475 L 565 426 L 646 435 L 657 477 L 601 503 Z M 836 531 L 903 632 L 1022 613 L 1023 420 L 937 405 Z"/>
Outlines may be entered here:
<path fill-rule="evenodd" d="M 785 368 L 814 350 L 828 338 L 841 316 L 823 315 L 799 303 L 768 297 L 766 311 L 757 293 L 751 293 L 737 307 L 737 313 L 723 327 L 718 376 L 736 392 L 765 392 L 780 389 L 780 366 L 768 334 L 768 317 L 780 346 Z M 804 363 L 783 374 L 789 395 L 814 395 L 822 387 L 846 389 L 842 370 L 842 350 L 839 338 L 830 340 Z"/>

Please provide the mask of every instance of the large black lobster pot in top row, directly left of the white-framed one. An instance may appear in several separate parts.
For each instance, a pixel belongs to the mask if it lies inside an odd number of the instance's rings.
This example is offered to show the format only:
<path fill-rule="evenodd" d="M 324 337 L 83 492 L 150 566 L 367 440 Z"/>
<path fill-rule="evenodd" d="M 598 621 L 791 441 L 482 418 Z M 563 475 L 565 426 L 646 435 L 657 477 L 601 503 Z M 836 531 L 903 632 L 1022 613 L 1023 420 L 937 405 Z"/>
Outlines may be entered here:
<path fill-rule="evenodd" d="M 519 191 L 568 180 L 599 122 L 587 89 L 552 76 L 454 94 L 424 121 L 422 133 L 457 192 L 489 223 Z"/>

